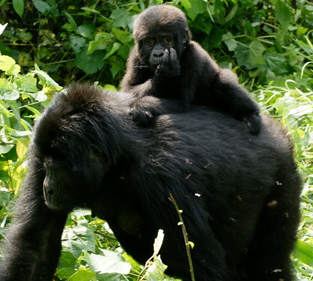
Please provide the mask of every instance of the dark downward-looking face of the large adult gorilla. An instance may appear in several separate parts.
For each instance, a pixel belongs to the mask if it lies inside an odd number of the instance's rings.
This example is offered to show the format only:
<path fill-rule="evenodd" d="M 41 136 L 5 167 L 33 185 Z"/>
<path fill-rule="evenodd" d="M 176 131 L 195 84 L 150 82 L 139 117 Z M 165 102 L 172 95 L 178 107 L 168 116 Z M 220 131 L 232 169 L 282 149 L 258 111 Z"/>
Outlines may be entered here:
<path fill-rule="evenodd" d="M 51 210 L 69 211 L 86 203 L 86 198 L 97 189 L 105 163 L 101 151 L 93 146 L 79 144 L 77 151 L 64 144 L 65 151 L 60 145 L 55 154 L 45 157 L 43 164 L 45 204 Z"/>

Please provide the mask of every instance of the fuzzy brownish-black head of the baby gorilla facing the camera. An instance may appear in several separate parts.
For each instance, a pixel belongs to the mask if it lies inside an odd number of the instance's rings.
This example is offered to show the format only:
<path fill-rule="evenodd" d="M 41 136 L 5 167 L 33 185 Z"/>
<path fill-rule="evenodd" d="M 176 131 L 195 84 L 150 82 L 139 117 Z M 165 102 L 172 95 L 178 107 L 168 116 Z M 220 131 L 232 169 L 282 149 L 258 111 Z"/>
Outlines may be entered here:
<path fill-rule="evenodd" d="M 179 60 L 191 40 L 185 15 L 171 5 L 144 10 L 134 22 L 133 35 L 142 64 L 151 69 L 162 63 L 166 49 L 175 49 Z"/>

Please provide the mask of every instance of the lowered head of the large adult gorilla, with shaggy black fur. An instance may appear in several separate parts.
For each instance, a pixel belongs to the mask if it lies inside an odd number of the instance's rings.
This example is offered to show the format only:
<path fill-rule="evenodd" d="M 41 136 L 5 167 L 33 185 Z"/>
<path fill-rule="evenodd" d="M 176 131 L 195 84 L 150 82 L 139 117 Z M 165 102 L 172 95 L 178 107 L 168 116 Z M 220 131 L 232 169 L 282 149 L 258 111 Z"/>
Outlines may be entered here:
<path fill-rule="evenodd" d="M 45 203 L 51 210 L 84 206 L 115 163 L 118 143 L 110 132 L 118 121 L 114 115 L 107 118 L 111 110 L 103 110 L 102 95 L 96 87 L 72 86 L 54 98 L 36 124 L 30 150 L 42 167 Z"/>

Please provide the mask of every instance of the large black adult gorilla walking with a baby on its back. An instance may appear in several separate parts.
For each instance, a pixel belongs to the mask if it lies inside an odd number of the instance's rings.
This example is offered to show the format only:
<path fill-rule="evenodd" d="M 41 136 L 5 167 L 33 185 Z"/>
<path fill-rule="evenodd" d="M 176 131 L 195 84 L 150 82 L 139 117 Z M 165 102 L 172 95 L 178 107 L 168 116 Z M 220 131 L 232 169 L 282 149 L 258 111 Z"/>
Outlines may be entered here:
<path fill-rule="evenodd" d="M 286 134 L 264 116 L 252 136 L 207 108 L 161 115 L 143 129 L 127 117 L 130 102 L 78 85 L 45 109 L 5 234 L 0 281 L 51 281 L 75 207 L 106 219 L 141 263 L 163 229 L 167 273 L 190 280 L 170 192 L 195 244 L 197 281 L 291 281 L 301 187 Z"/>

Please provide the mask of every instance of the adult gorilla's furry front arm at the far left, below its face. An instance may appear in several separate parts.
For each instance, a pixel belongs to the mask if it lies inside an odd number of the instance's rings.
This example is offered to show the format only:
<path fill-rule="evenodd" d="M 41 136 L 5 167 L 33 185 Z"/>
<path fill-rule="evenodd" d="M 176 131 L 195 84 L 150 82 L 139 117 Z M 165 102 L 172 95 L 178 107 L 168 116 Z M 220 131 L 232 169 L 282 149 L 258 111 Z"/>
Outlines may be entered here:
<path fill-rule="evenodd" d="M 5 233 L 0 281 L 51 281 L 59 261 L 67 214 L 48 210 L 45 175 L 34 162 L 29 163 L 14 223 Z"/>

